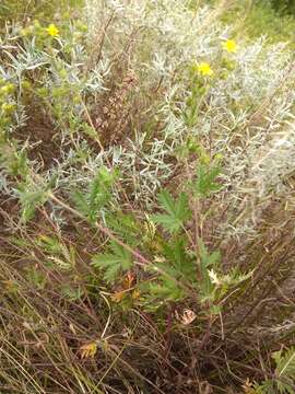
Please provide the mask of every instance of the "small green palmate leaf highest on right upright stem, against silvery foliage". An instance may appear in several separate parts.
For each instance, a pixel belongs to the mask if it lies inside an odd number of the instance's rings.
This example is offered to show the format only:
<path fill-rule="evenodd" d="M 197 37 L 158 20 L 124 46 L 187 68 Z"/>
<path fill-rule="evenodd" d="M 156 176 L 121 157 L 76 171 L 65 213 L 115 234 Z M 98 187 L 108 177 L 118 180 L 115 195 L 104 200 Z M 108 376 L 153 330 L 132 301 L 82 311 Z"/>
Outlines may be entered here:
<path fill-rule="evenodd" d="M 220 175 L 221 170 L 219 166 L 210 169 L 208 165 L 200 164 L 197 172 L 197 181 L 194 189 L 200 197 L 208 197 L 212 193 L 219 192 L 221 185 L 216 183 L 216 177 Z"/>

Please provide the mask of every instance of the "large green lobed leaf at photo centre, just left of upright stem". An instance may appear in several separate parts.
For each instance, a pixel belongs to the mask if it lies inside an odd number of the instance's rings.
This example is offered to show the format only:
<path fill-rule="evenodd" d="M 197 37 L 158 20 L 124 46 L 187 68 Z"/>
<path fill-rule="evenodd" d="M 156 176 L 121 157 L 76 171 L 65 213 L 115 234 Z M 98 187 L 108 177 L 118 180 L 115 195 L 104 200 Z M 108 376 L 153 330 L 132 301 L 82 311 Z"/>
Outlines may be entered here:
<path fill-rule="evenodd" d="M 158 202 L 166 213 L 153 215 L 153 220 L 162 224 L 170 233 L 179 232 L 185 222 L 191 217 L 188 196 L 181 193 L 178 199 L 174 200 L 167 190 L 162 190 L 158 196 Z"/>

